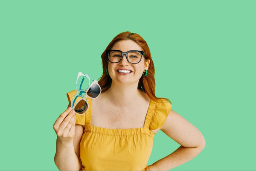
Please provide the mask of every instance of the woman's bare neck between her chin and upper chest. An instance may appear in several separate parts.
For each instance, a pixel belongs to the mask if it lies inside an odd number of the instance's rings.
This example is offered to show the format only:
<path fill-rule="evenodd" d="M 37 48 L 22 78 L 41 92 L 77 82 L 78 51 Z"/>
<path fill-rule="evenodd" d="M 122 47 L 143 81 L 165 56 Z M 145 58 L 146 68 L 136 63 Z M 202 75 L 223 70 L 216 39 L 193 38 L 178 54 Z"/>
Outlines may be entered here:
<path fill-rule="evenodd" d="M 140 98 L 138 82 L 134 84 L 116 84 L 112 81 L 111 87 L 106 91 L 109 101 L 115 106 L 129 107 Z"/>

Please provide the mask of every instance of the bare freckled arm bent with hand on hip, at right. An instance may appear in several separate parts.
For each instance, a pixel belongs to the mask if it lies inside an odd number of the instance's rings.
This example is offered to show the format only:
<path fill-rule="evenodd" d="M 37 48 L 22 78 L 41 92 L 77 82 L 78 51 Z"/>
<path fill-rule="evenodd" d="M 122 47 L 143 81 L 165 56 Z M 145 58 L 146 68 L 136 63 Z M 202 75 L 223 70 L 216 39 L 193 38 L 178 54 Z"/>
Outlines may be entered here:
<path fill-rule="evenodd" d="M 180 147 L 172 154 L 149 165 L 149 171 L 169 171 L 195 158 L 205 147 L 205 139 L 202 133 L 173 110 L 170 111 L 160 130 L 180 144 Z"/>

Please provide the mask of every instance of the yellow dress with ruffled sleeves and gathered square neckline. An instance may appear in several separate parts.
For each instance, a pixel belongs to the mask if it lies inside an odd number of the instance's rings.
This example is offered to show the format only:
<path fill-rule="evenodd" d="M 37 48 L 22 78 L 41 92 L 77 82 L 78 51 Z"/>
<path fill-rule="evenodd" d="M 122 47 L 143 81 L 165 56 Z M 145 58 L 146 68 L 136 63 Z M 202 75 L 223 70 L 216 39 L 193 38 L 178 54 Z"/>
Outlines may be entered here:
<path fill-rule="evenodd" d="M 72 101 L 76 90 L 67 93 Z M 79 98 L 78 98 L 79 99 Z M 76 124 L 84 125 L 80 142 L 82 170 L 147 170 L 154 133 L 165 122 L 172 104 L 150 101 L 143 128 L 108 129 L 90 125 L 91 99 L 87 112 L 76 114 Z"/>

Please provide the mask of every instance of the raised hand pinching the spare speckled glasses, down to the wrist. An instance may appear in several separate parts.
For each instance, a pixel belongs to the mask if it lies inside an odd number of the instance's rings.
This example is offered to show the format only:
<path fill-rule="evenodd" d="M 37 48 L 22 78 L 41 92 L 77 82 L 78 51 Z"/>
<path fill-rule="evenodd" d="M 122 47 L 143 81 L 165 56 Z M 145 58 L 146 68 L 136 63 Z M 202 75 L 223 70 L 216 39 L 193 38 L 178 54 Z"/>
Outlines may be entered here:
<path fill-rule="evenodd" d="M 57 134 L 57 139 L 61 142 L 71 143 L 75 136 L 76 114 L 71 107 L 68 107 L 56 119 L 53 124 L 53 129 Z"/>

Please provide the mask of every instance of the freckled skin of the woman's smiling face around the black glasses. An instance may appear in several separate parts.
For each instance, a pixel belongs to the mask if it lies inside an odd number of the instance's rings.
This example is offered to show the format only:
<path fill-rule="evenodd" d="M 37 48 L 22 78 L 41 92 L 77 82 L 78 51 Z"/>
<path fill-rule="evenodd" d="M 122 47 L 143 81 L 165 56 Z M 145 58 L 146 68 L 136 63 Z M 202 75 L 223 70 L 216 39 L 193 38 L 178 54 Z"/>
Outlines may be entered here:
<path fill-rule="evenodd" d="M 132 40 L 118 41 L 113 47 L 113 50 L 121 50 L 122 52 L 127 52 L 129 50 L 141 50 L 143 49 Z M 149 59 L 145 59 L 142 56 L 141 61 L 138 64 L 131 64 L 127 61 L 126 55 L 123 55 L 122 61 L 118 63 L 111 63 L 108 61 L 108 73 L 112 78 L 112 81 L 117 81 L 122 84 L 133 84 L 138 83 L 143 71 L 148 70 Z M 118 69 L 130 70 L 130 73 L 120 73 Z"/>

